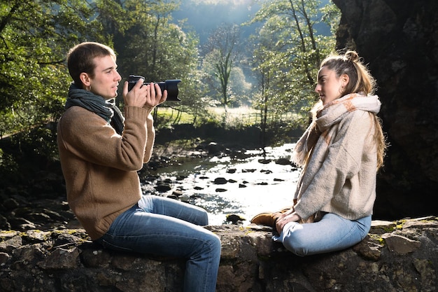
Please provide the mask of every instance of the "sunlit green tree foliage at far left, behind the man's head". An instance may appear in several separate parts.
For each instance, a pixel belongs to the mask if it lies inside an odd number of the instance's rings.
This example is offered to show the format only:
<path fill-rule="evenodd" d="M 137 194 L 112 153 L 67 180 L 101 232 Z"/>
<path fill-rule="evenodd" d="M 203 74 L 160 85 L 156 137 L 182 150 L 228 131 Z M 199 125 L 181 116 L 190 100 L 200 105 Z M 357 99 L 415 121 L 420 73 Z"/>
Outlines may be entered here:
<path fill-rule="evenodd" d="M 68 48 L 91 32 L 101 35 L 88 20 L 93 13 L 80 0 L 1 2 L 1 134 L 59 117 L 69 83 Z"/>

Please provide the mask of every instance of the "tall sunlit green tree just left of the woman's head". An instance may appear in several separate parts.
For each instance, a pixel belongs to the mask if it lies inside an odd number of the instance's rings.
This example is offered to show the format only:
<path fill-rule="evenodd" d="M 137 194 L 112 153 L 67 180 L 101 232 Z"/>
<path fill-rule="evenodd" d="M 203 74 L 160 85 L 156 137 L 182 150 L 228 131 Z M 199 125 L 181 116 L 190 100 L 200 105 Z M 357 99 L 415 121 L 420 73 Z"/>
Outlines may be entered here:
<path fill-rule="evenodd" d="M 263 22 L 254 61 L 262 80 L 264 120 L 267 109 L 306 116 L 317 99 L 313 89 L 318 66 L 334 50 L 335 39 L 333 34 L 318 34 L 316 26 L 323 23 L 321 18 L 327 20 L 323 13 L 330 13 L 330 20 L 339 20 L 334 4 L 320 7 L 318 0 L 266 1 L 250 22 Z"/>

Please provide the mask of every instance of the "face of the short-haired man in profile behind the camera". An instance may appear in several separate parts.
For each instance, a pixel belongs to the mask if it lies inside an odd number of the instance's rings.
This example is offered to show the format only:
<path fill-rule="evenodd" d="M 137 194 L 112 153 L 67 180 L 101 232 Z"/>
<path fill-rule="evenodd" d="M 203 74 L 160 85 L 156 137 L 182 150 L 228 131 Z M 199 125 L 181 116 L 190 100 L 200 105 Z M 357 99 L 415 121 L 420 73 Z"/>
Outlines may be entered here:
<path fill-rule="evenodd" d="M 111 56 L 95 57 L 94 78 L 90 80 L 90 91 L 104 99 L 117 97 L 117 87 L 122 79 L 117 64 Z"/>

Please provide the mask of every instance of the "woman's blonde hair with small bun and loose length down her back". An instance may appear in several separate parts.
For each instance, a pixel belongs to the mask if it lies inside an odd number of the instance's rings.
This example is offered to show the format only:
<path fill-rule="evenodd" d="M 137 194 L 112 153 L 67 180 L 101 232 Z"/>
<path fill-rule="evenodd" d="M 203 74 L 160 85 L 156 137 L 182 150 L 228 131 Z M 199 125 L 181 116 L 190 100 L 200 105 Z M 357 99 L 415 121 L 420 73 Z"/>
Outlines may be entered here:
<path fill-rule="evenodd" d="M 326 57 L 320 64 L 320 68 L 326 67 L 333 70 L 339 78 L 346 74 L 349 78 L 348 84 L 344 88 L 342 95 L 350 93 L 362 93 L 373 95 L 376 91 L 376 80 L 369 72 L 369 69 L 363 64 L 362 58 L 353 50 L 348 50 L 344 55 L 332 54 Z M 377 170 L 383 166 L 383 158 L 386 155 L 388 144 L 383 134 L 381 119 L 374 116 L 374 141 L 377 146 Z"/>

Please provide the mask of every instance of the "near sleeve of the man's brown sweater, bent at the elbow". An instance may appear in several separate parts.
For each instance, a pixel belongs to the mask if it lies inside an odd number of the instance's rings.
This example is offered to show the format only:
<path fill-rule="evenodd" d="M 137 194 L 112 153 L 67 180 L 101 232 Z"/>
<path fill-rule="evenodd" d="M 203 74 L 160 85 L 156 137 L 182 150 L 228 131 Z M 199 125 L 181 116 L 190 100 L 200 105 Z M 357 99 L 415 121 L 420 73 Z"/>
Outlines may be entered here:
<path fill-rule="evenodd" d="M 71 107 L 59 121 L 62 143 L 71 153 L 91 163 L 124 171 L 143 167 L 148 111 L 125 107 L 125 130 L 120 136 L 106 120 L 78 106 Z"/>

